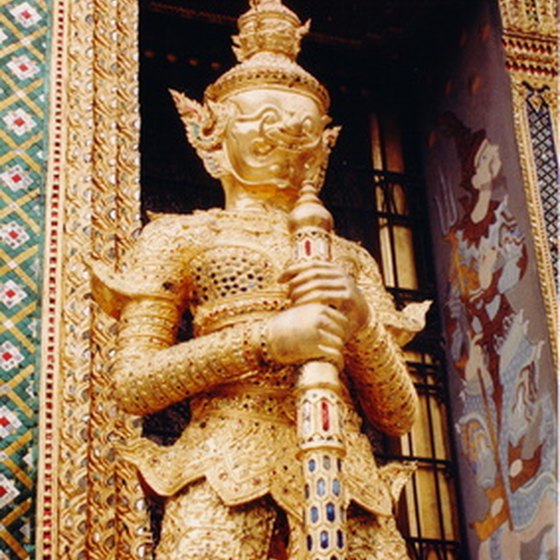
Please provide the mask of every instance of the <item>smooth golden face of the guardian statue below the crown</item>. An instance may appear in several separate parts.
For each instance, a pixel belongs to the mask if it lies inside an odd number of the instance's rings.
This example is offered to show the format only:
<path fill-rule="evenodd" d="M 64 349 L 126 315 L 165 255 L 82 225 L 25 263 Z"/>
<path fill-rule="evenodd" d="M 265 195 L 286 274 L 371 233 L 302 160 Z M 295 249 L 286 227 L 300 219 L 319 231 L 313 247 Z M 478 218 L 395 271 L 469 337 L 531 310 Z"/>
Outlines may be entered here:
<path fill-rule="evenodd" d="M 317 102 L 296 92 L 263 88 L 229 101 L 235 116 L 224 149 L 233 177 L 254 195 L 272 197 L 280 190 L 296 197 L 321 162 L 329 118 Z"/>

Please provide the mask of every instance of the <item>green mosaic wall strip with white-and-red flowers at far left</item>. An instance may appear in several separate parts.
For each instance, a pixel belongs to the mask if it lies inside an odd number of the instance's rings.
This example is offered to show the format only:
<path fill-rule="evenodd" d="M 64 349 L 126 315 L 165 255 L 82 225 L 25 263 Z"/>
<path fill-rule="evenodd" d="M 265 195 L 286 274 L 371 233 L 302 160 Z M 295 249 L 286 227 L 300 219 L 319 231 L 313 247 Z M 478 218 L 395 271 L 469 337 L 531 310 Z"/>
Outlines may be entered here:
<path fill-rule="evenodd" d="M 48 5 L 0 0 L 0 559 L 34 556 Z"/>

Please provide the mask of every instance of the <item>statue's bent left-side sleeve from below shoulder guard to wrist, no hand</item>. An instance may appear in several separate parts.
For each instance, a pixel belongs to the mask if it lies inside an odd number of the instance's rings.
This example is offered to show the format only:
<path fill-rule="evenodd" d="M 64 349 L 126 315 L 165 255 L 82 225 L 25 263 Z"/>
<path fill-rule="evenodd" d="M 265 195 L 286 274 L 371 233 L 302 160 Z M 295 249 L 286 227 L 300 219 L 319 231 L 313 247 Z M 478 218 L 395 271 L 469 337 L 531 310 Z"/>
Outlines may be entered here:
<path fill-rule="evenodd" d="M 117 401 L 133 414 L 155 412 L 262 369 L 262 322 L 175 343 L 180 307 L 142 298 L 121 315 L 114 367 Z"/>

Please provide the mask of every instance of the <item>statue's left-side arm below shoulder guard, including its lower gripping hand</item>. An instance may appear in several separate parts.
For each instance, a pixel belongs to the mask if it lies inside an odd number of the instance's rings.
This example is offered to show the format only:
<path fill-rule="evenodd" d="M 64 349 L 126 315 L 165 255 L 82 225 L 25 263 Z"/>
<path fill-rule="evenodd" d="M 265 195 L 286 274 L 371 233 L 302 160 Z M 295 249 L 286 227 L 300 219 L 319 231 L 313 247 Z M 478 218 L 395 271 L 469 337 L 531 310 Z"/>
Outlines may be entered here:
<path fill-rule="evenodd" d="M 181 309 L 162 297 L 132 298 L 124 305 L 114 366 L 123 410 L 155 412 L 264 369 L 341 361 L 346 319 L 327 305 L 287 309 L 176 344 Z"/>

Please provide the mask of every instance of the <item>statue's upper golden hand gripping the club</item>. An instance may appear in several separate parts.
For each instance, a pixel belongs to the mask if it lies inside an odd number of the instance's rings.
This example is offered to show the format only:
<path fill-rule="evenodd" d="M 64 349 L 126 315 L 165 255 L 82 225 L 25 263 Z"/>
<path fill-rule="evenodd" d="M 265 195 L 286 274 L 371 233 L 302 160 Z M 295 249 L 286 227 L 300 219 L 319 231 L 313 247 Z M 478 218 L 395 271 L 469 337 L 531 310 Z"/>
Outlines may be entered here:
<path fill-rule="evenodd" d="M 332 262 L 293 264 L 282 274 L 292 301 L 297 305 L 322 303 L 343 313 L 348 319 L 346 336 L 359 331 L 369 321 L 369 306 L 354 279 Z"/>

